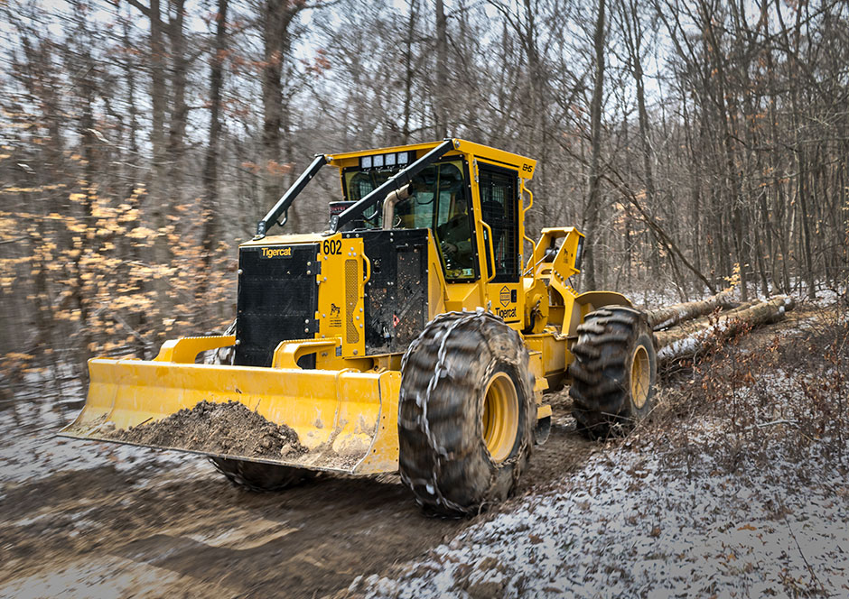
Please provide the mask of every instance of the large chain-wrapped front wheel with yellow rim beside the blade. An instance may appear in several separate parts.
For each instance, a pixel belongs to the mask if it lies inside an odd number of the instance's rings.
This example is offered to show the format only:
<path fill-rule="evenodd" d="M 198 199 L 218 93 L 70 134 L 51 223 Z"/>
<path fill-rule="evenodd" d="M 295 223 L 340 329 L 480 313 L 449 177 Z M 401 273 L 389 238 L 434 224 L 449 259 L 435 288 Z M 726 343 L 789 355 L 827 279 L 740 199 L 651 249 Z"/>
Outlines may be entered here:
<path fill-rule="evenodd" d="M 515 489 L 534 443 L 534 375 L 518 333 L 487 312 L 434 318 L 407 349 L 398 469 L 416 502 L 476 513 Z"/>

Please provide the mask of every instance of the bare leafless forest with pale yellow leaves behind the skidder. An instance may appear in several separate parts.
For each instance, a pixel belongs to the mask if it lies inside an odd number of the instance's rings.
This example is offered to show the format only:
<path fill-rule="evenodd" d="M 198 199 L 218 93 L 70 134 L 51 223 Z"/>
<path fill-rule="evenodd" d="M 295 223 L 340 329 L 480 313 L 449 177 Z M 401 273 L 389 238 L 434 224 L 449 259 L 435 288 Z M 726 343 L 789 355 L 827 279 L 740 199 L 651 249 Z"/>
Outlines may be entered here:
<path fill-rule="evenodd" d="M 6 0 L 0 39 L 2 395 L 221 330 L 314 153 L 446 135 L 539 160 L 581 289 L 845 293 L 845 0 Z"/>

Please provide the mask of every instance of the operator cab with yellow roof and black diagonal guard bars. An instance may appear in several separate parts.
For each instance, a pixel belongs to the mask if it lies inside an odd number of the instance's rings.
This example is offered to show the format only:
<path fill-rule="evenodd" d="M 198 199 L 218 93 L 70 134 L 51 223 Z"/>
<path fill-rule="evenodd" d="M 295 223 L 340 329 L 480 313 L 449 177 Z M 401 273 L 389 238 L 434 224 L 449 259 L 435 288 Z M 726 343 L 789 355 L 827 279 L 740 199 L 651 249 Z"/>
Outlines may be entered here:
<path fill-rule="evenodd" d="M 340 170 L 344 199 L 331 202 L 330 230 L 324 235 L 426 229 L 436 242 L 446 281 L 483 280 L 501 284 L 501 294 L 516 295 L 522 277 L 523 217 L 530 207 L 523 206 L 522 198 L 527 193 L 533 203 L 525 182 L 536 161 L 459 139 L 317 154 L 257 223 L 255 241 L 270 226 L 285 224 L 288 207 L 325 164 Z"/>

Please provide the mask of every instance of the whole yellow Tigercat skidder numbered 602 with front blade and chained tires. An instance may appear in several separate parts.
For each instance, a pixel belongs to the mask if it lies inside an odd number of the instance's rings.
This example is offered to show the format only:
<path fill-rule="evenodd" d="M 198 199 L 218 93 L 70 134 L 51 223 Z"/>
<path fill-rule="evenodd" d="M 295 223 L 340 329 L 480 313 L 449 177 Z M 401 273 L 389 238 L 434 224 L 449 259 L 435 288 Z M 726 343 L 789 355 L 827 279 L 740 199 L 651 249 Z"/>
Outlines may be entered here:
<path fill-rule="evenodd" d="M 343 194 L 329 230 L 269 235 L 328 164 Z M 140 444 L 209 455 L 255 489 L 397 471 L 431 511 L 503 500 L 548 436 L 546 391 L 568 383 L 578 428 L 604 436 L 648 413 L 656 375 L 643 314 L 570 286 L 583 235 L 527 236 L 535 168 L 460 139 L 318 155 L 239 247 L 233 334 L 168 341 L 151 361 L 92 359 L 86 405 L 61 434 L 116 440 L 238 402 L 301 450 Z M 229 358 L 199 363 L 221 348 Z"/>

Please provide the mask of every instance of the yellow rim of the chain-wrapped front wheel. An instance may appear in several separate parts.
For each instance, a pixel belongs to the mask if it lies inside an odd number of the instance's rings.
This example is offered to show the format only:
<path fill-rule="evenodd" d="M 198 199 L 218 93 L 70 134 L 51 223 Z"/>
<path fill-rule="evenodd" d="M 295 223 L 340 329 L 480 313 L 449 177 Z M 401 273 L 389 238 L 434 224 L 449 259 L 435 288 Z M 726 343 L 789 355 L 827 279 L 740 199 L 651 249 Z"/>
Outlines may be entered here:
<path fill-rule="evenodd" d="M 518 435 L 518 393 L 507 373 L 497 373 L 483 400 L 483 440 L 494 462 L 513 451 Z"/>

